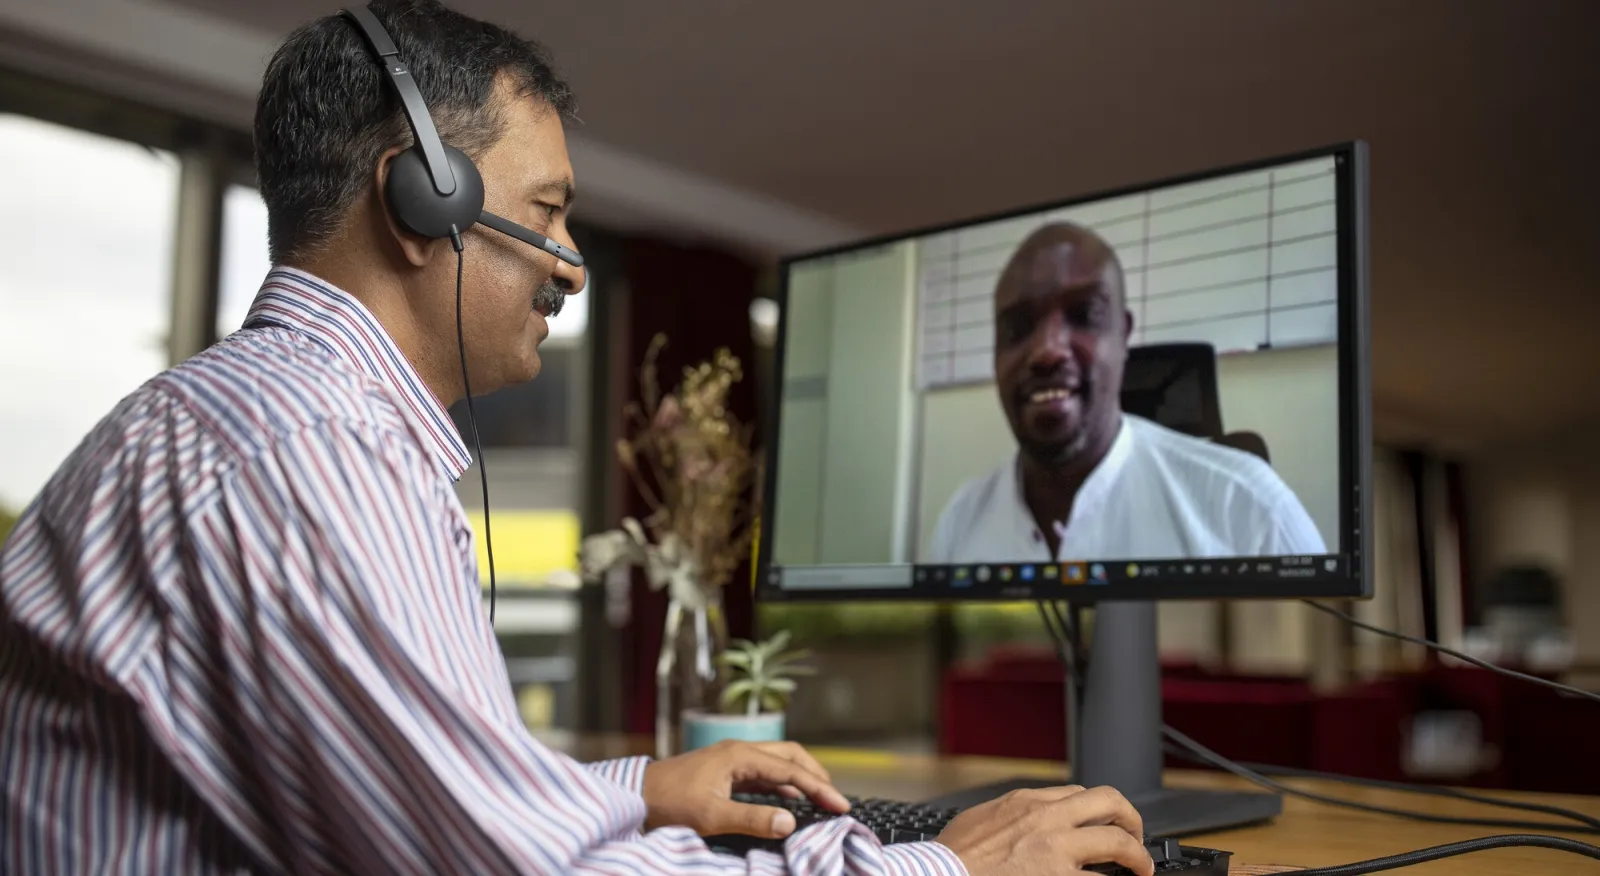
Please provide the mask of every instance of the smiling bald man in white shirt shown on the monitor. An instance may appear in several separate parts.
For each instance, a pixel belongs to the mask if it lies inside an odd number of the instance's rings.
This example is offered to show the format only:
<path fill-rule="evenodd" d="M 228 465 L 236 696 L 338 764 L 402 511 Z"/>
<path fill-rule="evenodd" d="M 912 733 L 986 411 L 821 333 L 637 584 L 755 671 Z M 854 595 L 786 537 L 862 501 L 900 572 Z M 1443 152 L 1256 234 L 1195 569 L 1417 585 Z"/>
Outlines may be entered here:
<path fill-rule="evenodd" d="M 1018 452 L 955 492 L 926 563 L 1323 553 L 1261 457 L 1122 411 L 1133 313 L 1094 232 L 1030 233 L 995 285 L 995 387 Z"/>

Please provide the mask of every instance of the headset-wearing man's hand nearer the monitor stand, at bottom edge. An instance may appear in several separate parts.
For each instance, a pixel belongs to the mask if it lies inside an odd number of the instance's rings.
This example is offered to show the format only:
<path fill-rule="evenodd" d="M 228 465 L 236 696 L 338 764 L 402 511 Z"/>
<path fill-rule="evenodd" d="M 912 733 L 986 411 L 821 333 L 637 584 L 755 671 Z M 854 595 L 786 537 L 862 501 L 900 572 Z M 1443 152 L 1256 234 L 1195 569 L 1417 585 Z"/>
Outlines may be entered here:
<path fill-rule="evenodd" d="M 1085 865 L 1120 863 L 1152 876 L 1139 812 L 1112 788 L 1082 785 L 1011 791 L 962 812 L 939 842 L 971 876 L 1058 876 Z"/>

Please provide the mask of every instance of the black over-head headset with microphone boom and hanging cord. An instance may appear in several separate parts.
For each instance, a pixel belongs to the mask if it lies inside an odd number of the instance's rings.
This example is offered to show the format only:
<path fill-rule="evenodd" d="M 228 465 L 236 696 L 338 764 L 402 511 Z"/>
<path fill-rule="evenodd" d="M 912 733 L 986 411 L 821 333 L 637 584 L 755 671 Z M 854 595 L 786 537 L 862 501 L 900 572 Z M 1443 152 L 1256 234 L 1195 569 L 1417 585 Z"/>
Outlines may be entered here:
<path fill-rule="evenodd" d="M 467 420 L 472 424 L 472 444 L 478 451 L 478 478 L 483 483 L 483 539 L 490 561 L 490 625 L 494 623 L 494 539 L 490 534 L 490 481 L 485 472 L 483 443 L 478 441 L 478 417 L 472 409 L 472 384 L 467 380 L 467 342 L 461 331 L 461 233 L 474 224 L 483 224 L 502 235 L 517 238 L 557 259 L 582 267 L 584 257 L 554 240 L 483 209 L 483 174 L 466 152 L 438 139 L 438 128 L 427 112 L 422 91 L 411 78 L 411 70 L 400 61 L 400 50 L 378 16 L 368 6 L 347 6 L 342 16 L 355 22 L 366 46 L 373 50 L 384 77 L 400 96 L 400 109 L 411 125 L 413 144 L 394 157 L 389 177 L 384 181 L 384 197 L 389 214 L 405 230 L 432 240 L 450 238 L 456 251 L 456 344 L 461 352 L 461 382 L 467 393 Z"/>

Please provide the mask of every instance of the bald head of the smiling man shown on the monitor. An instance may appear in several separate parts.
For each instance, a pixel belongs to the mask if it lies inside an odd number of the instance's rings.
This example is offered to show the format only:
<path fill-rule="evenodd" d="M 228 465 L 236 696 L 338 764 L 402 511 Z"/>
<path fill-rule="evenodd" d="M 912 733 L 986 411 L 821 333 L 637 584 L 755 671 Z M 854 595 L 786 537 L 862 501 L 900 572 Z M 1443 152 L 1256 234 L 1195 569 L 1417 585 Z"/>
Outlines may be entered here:
<path fill-rule="evenodd" d="M 995 283 L 995 384 L 1018 446 L 1048 468 L 1098 462 L 1122 424 L 1133 317 L 1122 262 L 1070 222 L 1037 229 Z"/>

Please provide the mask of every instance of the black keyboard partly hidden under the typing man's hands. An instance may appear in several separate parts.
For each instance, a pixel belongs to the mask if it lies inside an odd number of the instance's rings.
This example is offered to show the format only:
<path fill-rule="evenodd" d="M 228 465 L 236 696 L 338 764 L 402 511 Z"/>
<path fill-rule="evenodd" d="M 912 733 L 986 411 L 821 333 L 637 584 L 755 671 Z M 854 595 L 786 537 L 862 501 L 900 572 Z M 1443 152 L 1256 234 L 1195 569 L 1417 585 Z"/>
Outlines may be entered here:
<path fill-rule="evenodd" d="M 795 830 L 840 817 L 810 799 L 786 799 L 776 794 L 734 794 L 733 799 L 787 809 L 795 815 Z M 850 815 L 846 817 L 866 825 L 885 844 L 934 839 L 944 831 L 944 825 L 950 823 L 950 818 L 962 814 L 960 809 L 938 809 L 894 799 L 850 799 Z M 707 836 L 706 842 L 712 849 L 730 855 L 744 855 L 754 849 L 768 852 L 782 850 L 782 841 L 779 839 L 742 834 Z M 1232 857 L 1232 854 L 1216 849 L 1184 846 L 1171 838 L 1146 838 L 1144 847 L 1150 852 L 1150 860 L 1155 862 L 1155 873 L 1158 876 L 1227 876 L 1227 863 Z M 1131 870 L 1115 863 L 1096 863 L 1085 870 L 1104 876 L 1133 876 Z"/>

